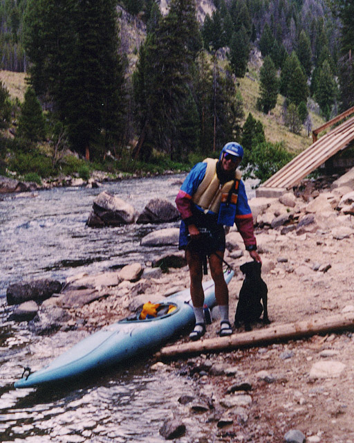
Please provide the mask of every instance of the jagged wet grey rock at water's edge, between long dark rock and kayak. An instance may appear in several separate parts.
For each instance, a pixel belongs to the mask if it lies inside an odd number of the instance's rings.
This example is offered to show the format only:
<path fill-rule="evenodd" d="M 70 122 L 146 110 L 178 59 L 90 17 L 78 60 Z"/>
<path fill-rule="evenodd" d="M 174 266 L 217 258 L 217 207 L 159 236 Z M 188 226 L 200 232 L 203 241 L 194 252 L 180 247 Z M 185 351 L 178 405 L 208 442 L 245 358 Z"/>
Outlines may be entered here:
<path fill-rule="evenodd" d="M 28 327 L 37 335 L 51 334 L 60 329 L 70 318 L 66 310 L 60 307 L 44 308 L 37 312 L 35 318 L 28 323 Z"/>

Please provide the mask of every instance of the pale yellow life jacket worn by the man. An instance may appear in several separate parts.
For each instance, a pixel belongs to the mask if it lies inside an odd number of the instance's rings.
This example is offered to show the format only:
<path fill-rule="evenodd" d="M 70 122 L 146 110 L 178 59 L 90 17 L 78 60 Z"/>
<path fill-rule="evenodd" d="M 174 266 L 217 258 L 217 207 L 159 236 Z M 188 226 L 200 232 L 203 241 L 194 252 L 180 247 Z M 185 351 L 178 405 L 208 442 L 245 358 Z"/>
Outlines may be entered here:
<path fill-rule="evenodd" d="M 194 204 L 198 205 L 203 209 L 204 213 L 207 214 L 210 211 L 213 213 L 218 213 L 220 209 L 221 201 L 226 201 L 229 191 L 234 184 L 234 179 L 236 179 L 236 189 L 239 186 L 239 181 L 241 180 L 241 171 L 235 171 L 235 177 L 231 181 L 227 181 L 221 186 L 218 176 L 216 175 L 216 163 L 217 159 L 205 159 L 207 163 L 207 169 L 205 170 L 205 176 L 198 189 L 192 197 Z M 236 204 L 237 193 L 233 193 L 230 203 Z"/>

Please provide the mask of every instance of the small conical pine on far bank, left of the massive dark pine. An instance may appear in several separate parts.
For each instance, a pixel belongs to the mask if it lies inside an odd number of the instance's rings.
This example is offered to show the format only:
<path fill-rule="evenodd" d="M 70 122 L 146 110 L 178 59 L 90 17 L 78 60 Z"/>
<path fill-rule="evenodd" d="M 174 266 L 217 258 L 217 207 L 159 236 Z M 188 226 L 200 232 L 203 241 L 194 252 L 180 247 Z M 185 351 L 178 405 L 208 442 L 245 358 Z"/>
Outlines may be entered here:
<path fill-rule="evenodd" d="M 32 143 L 43 140 L 46 135 L 46 122 L 39 100 L 32 88 L 26 90 L 24 103 L 21 105 L 17 136 Z"/>

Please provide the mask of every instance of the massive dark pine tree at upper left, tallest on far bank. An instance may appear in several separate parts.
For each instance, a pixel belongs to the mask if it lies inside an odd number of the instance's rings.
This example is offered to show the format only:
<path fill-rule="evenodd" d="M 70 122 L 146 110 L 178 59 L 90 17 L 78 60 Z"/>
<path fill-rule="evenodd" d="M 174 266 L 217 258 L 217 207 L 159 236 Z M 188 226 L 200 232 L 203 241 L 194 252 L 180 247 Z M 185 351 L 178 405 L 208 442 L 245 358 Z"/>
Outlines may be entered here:
<path fill-rule="evenodd" d="M 26 50 L 30 84 L 66 125 L 75 150 L 88 158 L 102 134 L 118 136 L 124 78 L 115 0 L 30 0 Z"/>

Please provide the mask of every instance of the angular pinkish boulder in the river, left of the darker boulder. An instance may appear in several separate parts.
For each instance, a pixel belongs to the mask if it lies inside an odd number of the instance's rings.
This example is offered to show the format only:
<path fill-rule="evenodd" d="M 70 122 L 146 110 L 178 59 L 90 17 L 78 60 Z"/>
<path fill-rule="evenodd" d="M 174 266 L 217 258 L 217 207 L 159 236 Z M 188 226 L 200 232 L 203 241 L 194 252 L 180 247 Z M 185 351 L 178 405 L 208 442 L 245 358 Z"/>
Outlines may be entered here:
<path fill-rule="evenodd" d="M 106 226 L 132 224 L 138 217 L 138 213 L 133 206 L 106 191 L 97 195 L 93 201 L 93 212 L 97 217 L 100 217 Z"/>

